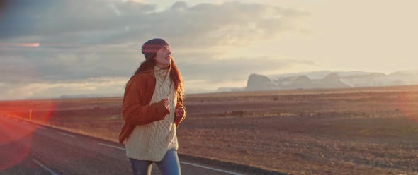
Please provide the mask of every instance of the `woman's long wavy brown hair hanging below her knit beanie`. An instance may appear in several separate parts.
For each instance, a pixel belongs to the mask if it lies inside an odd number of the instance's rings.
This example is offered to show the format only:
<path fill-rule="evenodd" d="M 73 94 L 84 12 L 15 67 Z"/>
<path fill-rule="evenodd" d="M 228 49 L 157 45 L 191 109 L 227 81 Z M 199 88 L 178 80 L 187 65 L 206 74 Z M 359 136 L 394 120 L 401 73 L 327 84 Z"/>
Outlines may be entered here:
<path fill-rule="evenodd" d="M 154 70 L 154 66 L 156 64 L 157 62 L 154 59 L 145 59 L 145 61 L 143 61 L 140 64 L 140 67 L 137 68 L 135 73 L 130 77 L 130 79 L 126 83 L 126 86 L 129 85 L 132 78 L 136 76 L 138 73 Z M 181 73 L 179 71 L 179 68 L 177 68 L 176 63 L 174 62 L 174 59 L 171 59 L 169 71 L 170 71 L 170 80 L 171 80 L 171 83 L 174 83 L 174 88 L 175 88 L 174 90 L 176 90 L 177 98 L 179 99 L 179 102 L 183 103 L 183 99 L 184 99 L 183 78 L 181 78 Z"/>

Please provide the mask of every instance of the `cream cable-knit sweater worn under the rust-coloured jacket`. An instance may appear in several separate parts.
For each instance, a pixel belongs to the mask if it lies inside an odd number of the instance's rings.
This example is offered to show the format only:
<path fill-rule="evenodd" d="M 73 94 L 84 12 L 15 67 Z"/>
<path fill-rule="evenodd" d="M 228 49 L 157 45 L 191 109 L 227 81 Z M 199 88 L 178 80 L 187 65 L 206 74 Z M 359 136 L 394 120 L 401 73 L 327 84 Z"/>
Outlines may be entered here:
<path fill-rule="evenodd" d="M 159 162 L 162 161 L 168 150 L 179 148 L 176 125 L 174 124 L 177 100 L 174 86 L 171 85 L 169 79 L 169 73 L 164 69 L 155 67 L 154 74 L 157 82 L 149 104 L 169 97 L 170 114 L 166 115 L 164 120 L 136 126 L 126 140 L 125 147 L 127 157 Z"/>

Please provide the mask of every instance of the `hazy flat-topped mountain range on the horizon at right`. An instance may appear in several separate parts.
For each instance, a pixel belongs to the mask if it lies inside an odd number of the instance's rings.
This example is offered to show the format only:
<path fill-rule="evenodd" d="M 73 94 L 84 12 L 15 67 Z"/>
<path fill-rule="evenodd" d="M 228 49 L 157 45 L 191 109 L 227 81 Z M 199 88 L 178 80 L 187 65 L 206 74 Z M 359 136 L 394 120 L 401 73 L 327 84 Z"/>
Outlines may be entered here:
<path fill-rule="evenodd" d="M 379 87 L 393 85 L 417 85 L 418 70 L 385 73 L 363 71 L 316 71 L 264 76 L 251 74 L 247 87 L 221 87 L 217 92 L 235 90 L 295 90 L 347 87 Z"/>

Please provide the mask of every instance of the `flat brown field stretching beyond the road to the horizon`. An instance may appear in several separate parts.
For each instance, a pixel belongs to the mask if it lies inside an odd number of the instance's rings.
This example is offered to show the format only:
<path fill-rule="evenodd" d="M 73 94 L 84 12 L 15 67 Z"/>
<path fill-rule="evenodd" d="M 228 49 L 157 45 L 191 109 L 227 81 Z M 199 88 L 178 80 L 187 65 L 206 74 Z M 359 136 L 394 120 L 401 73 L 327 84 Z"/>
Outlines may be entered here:
<path fill-rule="evenodd" d="M 121 97 L 0 102 L 0 112 L 118 140 Z M 417 174 L 418 86 L 186 95 L 179 153 L 288 174 Z"/>

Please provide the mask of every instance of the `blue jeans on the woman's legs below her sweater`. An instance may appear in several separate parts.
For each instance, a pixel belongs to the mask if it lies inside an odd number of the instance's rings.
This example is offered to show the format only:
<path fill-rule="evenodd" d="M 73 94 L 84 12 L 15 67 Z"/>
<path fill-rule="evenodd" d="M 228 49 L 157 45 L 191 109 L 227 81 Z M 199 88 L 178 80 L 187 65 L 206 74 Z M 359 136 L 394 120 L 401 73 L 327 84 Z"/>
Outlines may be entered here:
<path fill-rule="evenodd" d="M 169 150 L 160 162 L 155 162 L 163 175 L 181 175 L 179 156 L 176 150 Z M 152 161 L 130 159 L 134 175 L 151 174 Z"/>

